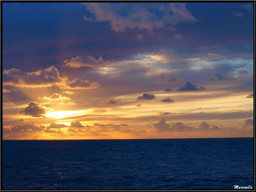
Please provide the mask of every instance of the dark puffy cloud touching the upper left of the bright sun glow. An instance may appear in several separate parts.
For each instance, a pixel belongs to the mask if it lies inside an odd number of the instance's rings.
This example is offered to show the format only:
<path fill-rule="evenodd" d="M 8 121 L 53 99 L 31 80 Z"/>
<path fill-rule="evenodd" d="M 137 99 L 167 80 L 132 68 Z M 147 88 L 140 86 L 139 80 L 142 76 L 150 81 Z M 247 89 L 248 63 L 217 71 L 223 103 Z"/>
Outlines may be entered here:
<path fill-rule="evenodd" d="M 29 102 L 28 107 L 23 110 L 19 110 L 20 114 L 31 115 L 33 117 L 43 117 L 47 112 L 53 111 L 50 107 L 40 105 L 38 102 Z"/>

